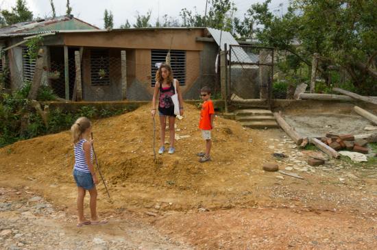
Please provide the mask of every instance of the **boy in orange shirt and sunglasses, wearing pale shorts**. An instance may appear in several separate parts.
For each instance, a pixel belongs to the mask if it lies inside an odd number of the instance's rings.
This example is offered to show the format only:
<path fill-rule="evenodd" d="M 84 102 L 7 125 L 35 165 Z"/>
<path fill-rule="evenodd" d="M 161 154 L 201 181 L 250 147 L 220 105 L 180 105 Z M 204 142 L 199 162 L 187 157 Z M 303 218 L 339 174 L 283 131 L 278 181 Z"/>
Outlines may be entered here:
<path fill-rule="evenodd" d="M 206 140 L 206 153 L 197 153 L 200 157 L 199 162 L 208 162 L 210 160 L 210 148 L 212 146 L 211 130 L 213 129 L 213 117 L 215 110 L 210 99 L 210 88 L 204 86 L 200 90 L 200 97 L 202 97 L 202 111 L 200 112 L 199 129 L 202 129 L 202 137 Z"/>

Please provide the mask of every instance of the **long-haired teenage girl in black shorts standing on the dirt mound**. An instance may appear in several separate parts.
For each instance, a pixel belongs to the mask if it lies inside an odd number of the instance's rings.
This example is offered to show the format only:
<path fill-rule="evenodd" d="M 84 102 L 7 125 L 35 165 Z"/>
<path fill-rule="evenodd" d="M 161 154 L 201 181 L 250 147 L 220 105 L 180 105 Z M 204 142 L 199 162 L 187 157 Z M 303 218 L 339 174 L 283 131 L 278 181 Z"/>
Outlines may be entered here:
<path fill-rule="evenodd" d="M 175 81 L 176 89 L 173 81 Z M 171 96 L 178 93 L 178 100 L 180 102 L 180 115 L 183 115 L 183 99 L 180 91 L 180 83 L 173 78 L 173 71 L 169 64 L 161 64 L 156 73 L 156 85 L 154 86 L 154 95 L 152 99 L 151 115 L 154 118 L 156 114 L 156 98 L 158 97 L 158 114 L 160 115 L 160 142 L 161 147 L 158 153 L 162 154 L 165 151 L 165 127 L 167 125 L 167 118 L 169 118 L 169 132 L 170 132 L 170 147 L 169 153 L 174 153 L 175 142 L 175 114 L 174 105 Z"/>

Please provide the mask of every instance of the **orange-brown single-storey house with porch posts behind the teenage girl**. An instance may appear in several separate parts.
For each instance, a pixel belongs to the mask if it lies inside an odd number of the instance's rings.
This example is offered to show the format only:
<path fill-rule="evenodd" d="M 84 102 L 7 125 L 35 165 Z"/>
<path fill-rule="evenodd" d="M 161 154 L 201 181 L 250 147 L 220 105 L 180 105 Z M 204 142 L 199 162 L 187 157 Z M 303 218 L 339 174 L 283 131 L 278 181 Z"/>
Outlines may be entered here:
<path fill-rule="evenodd" d="M 49 72 L 43 81 L 56 95 L 70 100 L 150 100 L 158 63 L 165 62 L 170 51 L 173 74 L 180 82 L 184 99 L 198 99 L 202 86 L 219 93 L 215 61 L 221 42 L 213 39 L 214 32 L 219 33 L 203 27 L 45 32 L 40 35 Z M 21 39 L 25 36 L 19 34 Z M 19 75 L 27 75 L 25 70 L 27 67 Z M 13 78 L 11 86 L 18 86 Z"/>

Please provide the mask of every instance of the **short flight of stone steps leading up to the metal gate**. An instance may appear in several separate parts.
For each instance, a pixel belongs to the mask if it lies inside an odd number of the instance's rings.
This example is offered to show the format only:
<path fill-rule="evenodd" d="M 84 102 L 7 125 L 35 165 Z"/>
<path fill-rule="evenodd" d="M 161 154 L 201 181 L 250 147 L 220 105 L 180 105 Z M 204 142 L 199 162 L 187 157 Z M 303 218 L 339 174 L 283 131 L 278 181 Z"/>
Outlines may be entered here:
<path fill-rule="evenodd" d="M 234 115 L 236 121 L 239 121 L 244 127 L 252 127 L 254 129 L 279 127 L 270 110 L 236 110 Z"/>

